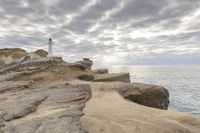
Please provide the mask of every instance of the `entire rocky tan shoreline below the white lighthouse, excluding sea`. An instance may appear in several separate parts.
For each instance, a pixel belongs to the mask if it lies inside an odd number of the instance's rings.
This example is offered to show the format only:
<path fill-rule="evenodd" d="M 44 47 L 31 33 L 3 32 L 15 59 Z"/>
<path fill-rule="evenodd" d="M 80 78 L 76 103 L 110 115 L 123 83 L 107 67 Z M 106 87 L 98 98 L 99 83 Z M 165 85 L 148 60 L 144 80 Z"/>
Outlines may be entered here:
<path fill-rule="evenodd" d="M 46 55 L 0 50 L 1 133 L 200 132 L 198 118 L 167 110 L 166 88 Z"/>

